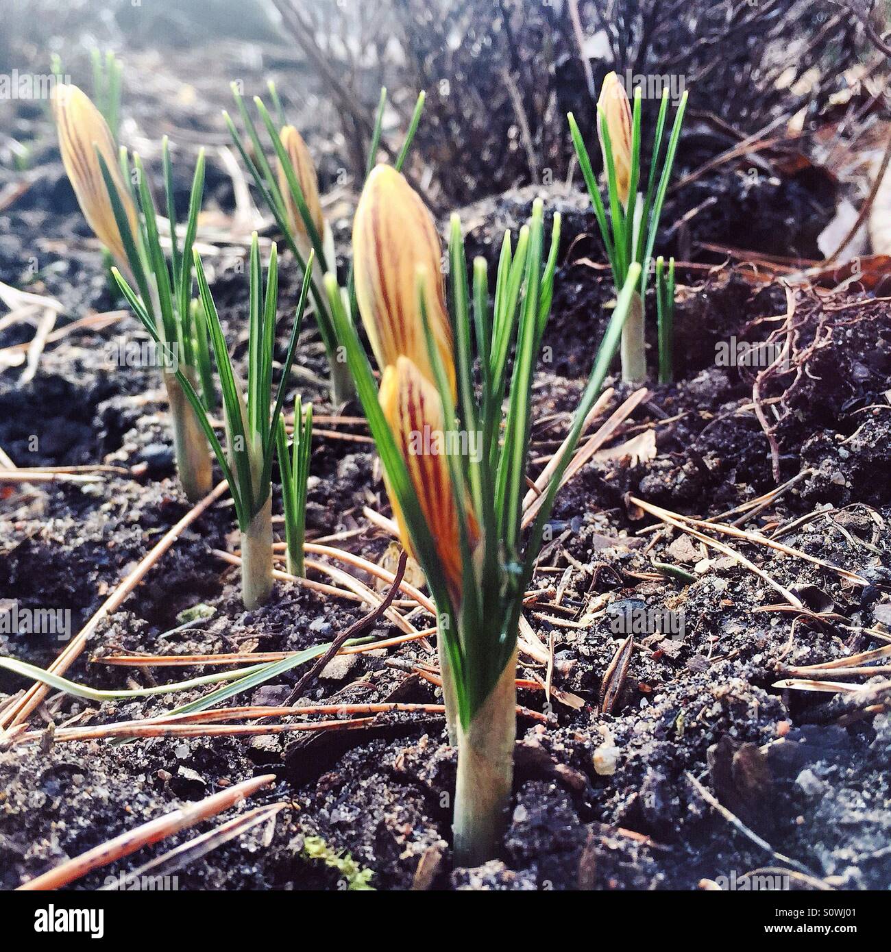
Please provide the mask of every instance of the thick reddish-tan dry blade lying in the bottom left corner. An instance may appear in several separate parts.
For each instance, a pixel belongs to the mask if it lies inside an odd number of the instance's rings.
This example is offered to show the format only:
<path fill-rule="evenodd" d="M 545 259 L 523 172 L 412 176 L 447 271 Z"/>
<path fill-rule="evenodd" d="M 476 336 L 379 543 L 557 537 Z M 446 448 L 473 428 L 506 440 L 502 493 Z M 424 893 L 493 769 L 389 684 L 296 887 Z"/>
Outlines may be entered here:
<path fill-rule="evenodd" d="M 252 796 L 257 790 L 268 786 L 274 780 L 274 774 L 253 777 L 243 783 L 236 783 L 228 790 L 214 793 L 199 803 L 181 806 L 170 813 L 165 813 L 162 817 L 143 823 L 126 833 L 121 833 L 109 840 L 108 843 L 95 846 L 66 863 L 61 863 L 42 876 L 37 876 L 28 883 L 23 883 L 18 888 L 26 891 L 60 889 L 62 886 L 86 876 L 93 869 L 99 869 L 109 863 L 114 863 L 122 857 L 130 856 L 131 853 L 135 853 L 137 849 L 141 849 L 143 846 L 158 843 L 180 830 L 194 826 L 195 823 L 216 816 L 217 813 L 229 809 L 229 807 L 234 806 L 235 803 L 239 803 L 246 797 Z"/>

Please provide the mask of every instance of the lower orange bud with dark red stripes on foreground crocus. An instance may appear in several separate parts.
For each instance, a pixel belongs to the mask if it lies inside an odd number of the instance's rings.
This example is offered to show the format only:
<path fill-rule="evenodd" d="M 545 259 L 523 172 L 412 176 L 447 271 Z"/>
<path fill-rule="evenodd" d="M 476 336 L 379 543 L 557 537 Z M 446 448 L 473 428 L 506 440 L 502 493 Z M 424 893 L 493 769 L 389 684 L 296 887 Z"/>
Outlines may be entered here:
<path fill-rule="evenodd" d="M 455 604 L 460 605 L 463 563 L 457 506 L 446 458 L 449 434 L 443 426 L 439 391 L 412 360 L 400 355 L 395 364 L 384 369 L 378 399 L 405 461 L 424 521 L 435 540 L 446 585 Z M 402 545 L 413 554 L 402 510 L 390 487 L 387 488 Z M 472 520 L 468 542 L 473 547 L 479 531 L 469 504 L 465 509 Z"/>

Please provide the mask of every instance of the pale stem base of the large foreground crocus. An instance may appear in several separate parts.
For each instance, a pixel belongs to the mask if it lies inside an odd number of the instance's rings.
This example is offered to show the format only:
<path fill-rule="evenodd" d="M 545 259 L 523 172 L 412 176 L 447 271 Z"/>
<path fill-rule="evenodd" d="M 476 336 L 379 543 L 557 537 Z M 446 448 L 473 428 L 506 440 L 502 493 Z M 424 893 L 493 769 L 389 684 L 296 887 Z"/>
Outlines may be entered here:
<path fill-rule="evenodd" d="M 465 731 L 458 724 L 455 853 L 461 865 L 496 857 L 514 781 L 516 649 Z"/>

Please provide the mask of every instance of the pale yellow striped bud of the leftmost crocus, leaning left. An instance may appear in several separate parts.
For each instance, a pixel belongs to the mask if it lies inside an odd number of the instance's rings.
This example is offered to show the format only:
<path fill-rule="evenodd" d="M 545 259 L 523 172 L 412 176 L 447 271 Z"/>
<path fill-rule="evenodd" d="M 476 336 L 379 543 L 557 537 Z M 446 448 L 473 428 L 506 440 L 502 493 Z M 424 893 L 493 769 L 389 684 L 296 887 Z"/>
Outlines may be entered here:
<path fill-rule="evenodd" d="M 99 241 L 111 251 L 118 265 L 129 270 L 124 242 L 96 154 L 98 152 L 102 156 L 111 173 L 135 240 L 136 208 L 121 177 L 117 148 L 108 124 L 102 118 L 102 113 L 93 106 L 90 97 L 76 86 L 59 84 L 55 87 L 52 113 L 59 132 L 62 162 L 84 218 Z"/>

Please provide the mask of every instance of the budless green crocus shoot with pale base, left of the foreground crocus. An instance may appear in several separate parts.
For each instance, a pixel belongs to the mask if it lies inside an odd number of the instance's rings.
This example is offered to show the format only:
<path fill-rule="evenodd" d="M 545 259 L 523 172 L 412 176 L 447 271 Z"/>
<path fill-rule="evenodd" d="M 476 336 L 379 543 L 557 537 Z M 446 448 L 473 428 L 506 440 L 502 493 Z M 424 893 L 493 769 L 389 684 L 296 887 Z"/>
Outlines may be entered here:
<path fill-rule="evenodd" d="M 312 266 L 312 263 L 311 253 L 308 264 Z M 294 352 L 311 272 L 307 271 L 304 276 L 291 339 L 282 363 L 281 377 L 271 410 L 273 347 L 278 303 L 278 261 L 275 246 L 273 245 L 264 287 L 259 243 L 254 233 L 251 242 L 248 379 L 244 384 L 239 381 L 233 369 L 213 295 L 197 251 L 194 252 L 194 264 L 202 316 L 213 344 L 213 356 L 223 394 L 226 420 L 225 452 L 213 432 L 213 425 L 192 382 L 182 369 L 176 371 L 176 376 L 229 483 L 241 533 L 241 594 L 245 607 L 250 609 L 266 602 L 273 589 L 273 454 L 285 389 L 294 364 Z M 114 268 L 112 273 L 137 316 L 152 337 L 159 340 L 159 328 L 142 306 L 136 292 L 117 268 Z"/>

